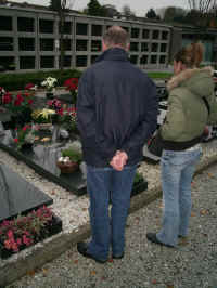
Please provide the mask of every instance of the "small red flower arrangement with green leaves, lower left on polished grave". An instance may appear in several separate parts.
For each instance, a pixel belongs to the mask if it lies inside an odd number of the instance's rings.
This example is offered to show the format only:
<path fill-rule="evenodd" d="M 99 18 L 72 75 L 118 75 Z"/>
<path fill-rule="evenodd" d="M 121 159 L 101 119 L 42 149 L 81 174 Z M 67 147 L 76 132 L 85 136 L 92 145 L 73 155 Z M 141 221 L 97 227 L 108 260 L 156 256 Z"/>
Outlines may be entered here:
<path fill-rule="evenodd" d="M 14 142 L 17 145 L 17 149 L 21 149 L 24 144 L 34 144 L 37 135 L 37 128 L 29 125 L 24 126 L 22 129 L 16 130 L 16 138 Z"/>

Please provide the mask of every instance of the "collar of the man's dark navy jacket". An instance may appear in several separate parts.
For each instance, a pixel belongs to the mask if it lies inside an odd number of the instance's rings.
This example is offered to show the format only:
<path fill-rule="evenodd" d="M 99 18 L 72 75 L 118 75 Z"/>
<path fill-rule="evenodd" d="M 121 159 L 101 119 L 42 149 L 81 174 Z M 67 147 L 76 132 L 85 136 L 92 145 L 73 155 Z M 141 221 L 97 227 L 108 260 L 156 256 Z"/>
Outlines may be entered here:
<path fill-rule="evenodd" d="M 127 52 L 122 48 L 111 48 L 105 50 L 95 62 L 100 61 L 129 61 Z"/>

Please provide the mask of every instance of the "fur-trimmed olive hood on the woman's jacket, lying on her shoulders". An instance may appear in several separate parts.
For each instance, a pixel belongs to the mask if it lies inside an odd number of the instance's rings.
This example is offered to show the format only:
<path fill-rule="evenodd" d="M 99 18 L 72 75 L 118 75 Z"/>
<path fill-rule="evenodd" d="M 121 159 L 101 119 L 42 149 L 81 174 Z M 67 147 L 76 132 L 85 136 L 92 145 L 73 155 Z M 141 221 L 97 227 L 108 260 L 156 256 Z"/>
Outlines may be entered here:
<path fill-rule="evenodd" d="M 200 96 L 210 95 L 214 91 L 213 73 L 214 69 L 209 66 L 202 69 L 192 68 L 182 70 L 168 81 L 167 90 L 171 91 L 178 87 L 186 87 L 192 93 Z"/>

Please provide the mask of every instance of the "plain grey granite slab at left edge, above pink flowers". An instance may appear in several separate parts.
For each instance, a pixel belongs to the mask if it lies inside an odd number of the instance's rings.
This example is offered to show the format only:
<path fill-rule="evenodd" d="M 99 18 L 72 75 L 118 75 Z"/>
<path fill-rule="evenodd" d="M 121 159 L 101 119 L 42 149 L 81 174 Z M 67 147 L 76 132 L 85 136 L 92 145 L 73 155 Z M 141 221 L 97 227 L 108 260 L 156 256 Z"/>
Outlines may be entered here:
<path fill-rule="evenodd" d="M 52 202 L 51 197 L 0 162 L 0 221 Z"/>

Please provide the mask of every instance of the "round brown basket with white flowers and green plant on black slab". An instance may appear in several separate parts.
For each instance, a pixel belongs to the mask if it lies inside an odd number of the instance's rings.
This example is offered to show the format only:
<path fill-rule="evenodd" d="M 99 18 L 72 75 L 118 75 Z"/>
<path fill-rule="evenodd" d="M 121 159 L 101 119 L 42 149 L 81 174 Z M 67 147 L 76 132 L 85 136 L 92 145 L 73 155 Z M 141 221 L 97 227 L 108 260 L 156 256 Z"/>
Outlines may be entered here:
<path fill-rule="evenodd" d="M 56 166 L 63 174 L 73 173 L 78 170 L 81 160 L 82 154 L 79 150 L 69 147 L 62 150 L 62 156 L 58 159 Z"/>

